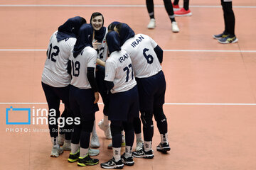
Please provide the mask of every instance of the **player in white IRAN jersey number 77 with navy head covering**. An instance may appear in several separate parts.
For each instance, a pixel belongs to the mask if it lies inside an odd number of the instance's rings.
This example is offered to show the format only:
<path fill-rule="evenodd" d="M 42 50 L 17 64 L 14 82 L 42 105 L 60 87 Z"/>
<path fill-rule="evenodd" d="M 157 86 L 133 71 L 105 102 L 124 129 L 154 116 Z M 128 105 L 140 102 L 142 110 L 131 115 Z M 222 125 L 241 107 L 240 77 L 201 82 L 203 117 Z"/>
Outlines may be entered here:
<path fill-rule="evenodd" d="M 121 50 L 118 34 L 107 33 L 110 57 L 105 64 L 105 81 L 111 91 L 108 111 L 111 122 L 113 157 L 102 163 L 105 169 L 122 169 L 124 164 L 132 166 L 134 142 L 133 120 L 139 117 L 139 96 L 134 78 L 132 61 L 126 51 Z M 122 130 L 125 132 L 125 152 L 121 156 Z"/>

